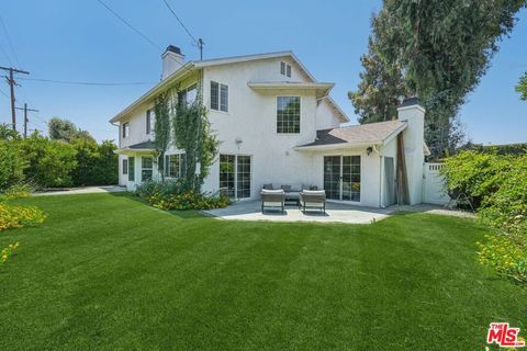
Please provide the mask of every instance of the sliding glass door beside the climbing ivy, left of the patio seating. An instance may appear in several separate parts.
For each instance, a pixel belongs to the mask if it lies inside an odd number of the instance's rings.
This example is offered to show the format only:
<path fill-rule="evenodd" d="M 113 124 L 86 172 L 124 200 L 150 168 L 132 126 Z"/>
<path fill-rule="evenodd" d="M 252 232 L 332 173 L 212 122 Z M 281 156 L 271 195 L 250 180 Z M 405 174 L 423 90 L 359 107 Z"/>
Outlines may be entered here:
<path fill-rule="evenodd" d="M 231 199 L 250 197 L 250 156 L 220 155 L 220 191 Z"/>

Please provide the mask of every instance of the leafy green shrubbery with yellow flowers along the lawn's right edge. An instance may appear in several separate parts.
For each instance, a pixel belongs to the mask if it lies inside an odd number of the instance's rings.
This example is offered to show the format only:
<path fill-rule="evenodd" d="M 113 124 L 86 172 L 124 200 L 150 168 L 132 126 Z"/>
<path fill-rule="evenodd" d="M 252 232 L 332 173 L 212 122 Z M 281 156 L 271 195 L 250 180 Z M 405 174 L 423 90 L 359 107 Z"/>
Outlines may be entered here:
<path fill-rule="evenodd" d="M 481 219 L 497 229 L 479 244 L 480 260 L 527 282 L 527 155 L 462 151 L 446 159 L 449 189 L 479 199 Z"/>

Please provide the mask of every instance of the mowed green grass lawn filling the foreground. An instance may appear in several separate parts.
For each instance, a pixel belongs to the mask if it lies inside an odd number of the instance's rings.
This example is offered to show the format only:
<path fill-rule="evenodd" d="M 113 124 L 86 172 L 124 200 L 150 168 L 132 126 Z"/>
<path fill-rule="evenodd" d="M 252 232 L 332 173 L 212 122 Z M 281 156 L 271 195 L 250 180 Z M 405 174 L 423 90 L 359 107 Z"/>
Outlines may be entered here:
<path fill-rule="evenodd" d="M 33 197 L 0 233 L 2 350 L 483 350 L 527 290 L 476 262 L 471 219 L 225 222 L 127 195 Z"/>

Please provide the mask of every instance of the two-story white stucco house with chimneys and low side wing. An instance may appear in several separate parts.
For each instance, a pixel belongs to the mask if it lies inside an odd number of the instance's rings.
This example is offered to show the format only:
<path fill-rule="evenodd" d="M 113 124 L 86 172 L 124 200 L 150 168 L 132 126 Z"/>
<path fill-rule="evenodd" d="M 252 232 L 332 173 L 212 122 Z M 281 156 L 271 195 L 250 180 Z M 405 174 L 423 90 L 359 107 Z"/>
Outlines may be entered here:
<path fill-rule="evenodd" d="M 341 127 L 348 117 L 329 95 L 334 83 L 317 81 L 292 52 L 184 61 L 169 46 L 161 57 L 161 81 L 110 121 L 120 128 L 119 180 L 128 190 L 158 177 L 154 100 L 177 86 L 187 101 L 202 89 L 221 140 L 203 191 L 244 200 L 259 199 L 268 183 L 309 184 L 357 205 L 423 201 L 427 147 L 417 99 L 406 100 L 395 121 Z M 181 155 L 170 147 L 166 177 L 179 176 Z"/>

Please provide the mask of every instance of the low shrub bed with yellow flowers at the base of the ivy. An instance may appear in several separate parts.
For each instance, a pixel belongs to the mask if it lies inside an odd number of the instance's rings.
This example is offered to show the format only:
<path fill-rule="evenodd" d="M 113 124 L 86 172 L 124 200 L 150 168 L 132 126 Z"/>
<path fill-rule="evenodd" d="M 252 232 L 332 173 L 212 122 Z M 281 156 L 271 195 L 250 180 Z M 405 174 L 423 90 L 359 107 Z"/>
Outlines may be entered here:
<path fill-rule="evenodd" d="M 146 197 L 148 203 L 156 208 L 170 210 L 211 210 L 226 207 L 229 200 L 226 196 L 214 196 L 209 194 L 187 191 L 180 194 L 154 193 Z"/>

